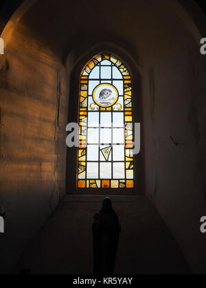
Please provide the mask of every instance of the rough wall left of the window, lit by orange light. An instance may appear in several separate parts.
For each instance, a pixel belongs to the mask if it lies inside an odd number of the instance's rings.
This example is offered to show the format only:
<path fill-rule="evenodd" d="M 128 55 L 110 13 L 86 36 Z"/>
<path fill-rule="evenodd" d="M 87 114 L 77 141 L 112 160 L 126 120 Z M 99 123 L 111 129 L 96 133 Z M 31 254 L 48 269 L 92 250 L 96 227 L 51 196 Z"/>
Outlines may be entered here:
<path fill-rule="evenodd" d="M 6 211 L 0 273 L 5 273 L 65 193 L 68 79 L 25 27 L 14 32 L 0 57 L 0 204 Z"/>

